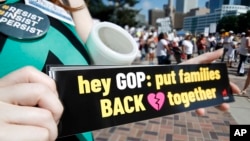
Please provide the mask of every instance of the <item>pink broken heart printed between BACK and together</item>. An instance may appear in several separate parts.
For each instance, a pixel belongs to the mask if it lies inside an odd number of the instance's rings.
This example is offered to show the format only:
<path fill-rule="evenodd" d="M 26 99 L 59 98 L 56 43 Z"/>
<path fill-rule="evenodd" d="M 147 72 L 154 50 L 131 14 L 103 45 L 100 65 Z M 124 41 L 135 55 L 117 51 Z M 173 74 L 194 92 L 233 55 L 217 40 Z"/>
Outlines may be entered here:
<path fill-rule="evenodd" d="M 158 92 L 157 94 L 150 93 L 147 98 L 148 103 L 157 111 L 162 108 L 165 102 L 165 95 L 163 92 Z"/>

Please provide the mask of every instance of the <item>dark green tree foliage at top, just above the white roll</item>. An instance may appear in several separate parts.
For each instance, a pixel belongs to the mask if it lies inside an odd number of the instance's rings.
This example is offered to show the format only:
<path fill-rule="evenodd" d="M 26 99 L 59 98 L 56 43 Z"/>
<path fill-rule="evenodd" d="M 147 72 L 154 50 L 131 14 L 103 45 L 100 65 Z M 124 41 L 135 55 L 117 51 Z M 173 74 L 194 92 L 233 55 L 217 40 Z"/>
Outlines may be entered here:
<path fill-rule="evenodd" d="M 120 26 L 135 26 L 135 16 L 139 13 L 133 9 L 139 0 L 109 0 L 110 5 L 105 5 L 102 0 L 88 0 L 88 8 L 93 18 L 100 21 L 109 21 Z"/>

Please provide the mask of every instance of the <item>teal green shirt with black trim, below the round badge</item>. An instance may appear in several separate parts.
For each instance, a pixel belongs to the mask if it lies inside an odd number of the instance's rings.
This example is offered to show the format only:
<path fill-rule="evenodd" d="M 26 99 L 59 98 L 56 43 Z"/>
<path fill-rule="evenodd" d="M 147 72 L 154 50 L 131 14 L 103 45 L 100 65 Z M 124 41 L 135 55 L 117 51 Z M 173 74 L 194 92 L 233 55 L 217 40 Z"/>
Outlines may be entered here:
<path fill-rule="evenodd" d="M 19 0 L 7 0 L 15 3 Z M 20 40 L 0 33 L 0 78 L 11 71 L 30 65 L 45 71 L 46 64 L 88 65 L 88 53 L 75 28 L 50 18 L 52 25 L 45 36 Z M 53 25 L 54 24 L 54 25 Z M 58 30 L 57 25 L 61 29 Z M 81 140 L 92 140 L 91 132 L 78 134 Z"/>

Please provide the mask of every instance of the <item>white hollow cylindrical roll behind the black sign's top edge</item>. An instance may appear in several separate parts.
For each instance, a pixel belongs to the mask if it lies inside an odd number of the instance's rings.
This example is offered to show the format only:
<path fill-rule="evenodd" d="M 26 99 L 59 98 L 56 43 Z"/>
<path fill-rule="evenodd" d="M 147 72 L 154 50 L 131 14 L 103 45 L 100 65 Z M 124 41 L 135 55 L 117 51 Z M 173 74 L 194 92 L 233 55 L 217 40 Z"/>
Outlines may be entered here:
<path fill-rule="evenodd" d="M 138 51 L 133 37 L 110 22 L 94 24 L 86 45 L 93 65 L 130 65 Z"/>

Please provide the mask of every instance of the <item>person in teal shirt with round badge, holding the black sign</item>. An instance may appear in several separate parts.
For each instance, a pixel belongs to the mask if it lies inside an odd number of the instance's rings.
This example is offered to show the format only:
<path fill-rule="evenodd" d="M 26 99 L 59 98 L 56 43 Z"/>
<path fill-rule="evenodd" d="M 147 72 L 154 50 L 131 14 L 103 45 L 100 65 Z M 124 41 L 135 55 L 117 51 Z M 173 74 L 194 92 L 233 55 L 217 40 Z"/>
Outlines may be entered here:
<path fill-rule="evenodd" d="M 84 1 L 70 0 L 72 9 L 57 2 L 74 11 L 74 20 L 59 19 L 58 15 L 53 17 L 49 13 L 46 17 L 28 6 L 28 3 L 37 5 L 39 2 L 42 2 L 40 6 L 52 8 L 46 11 L 44 7 L 44 13 L 53 8 L 53 13 L 64 13 L 57 5 L 51 6 L 43 0 L 26 0 L 26 5 L 19 0 L 7 0 L 1 5 L 0 10 L 5 14 L 0 15 L 0 140 L 55 140 L 63 108 L 54 81 L 40 71 L 45 72 L 46 64 L 90 63 L 84 42 L 88 42 L 92 20 Z M 26 22 L 12 17 L 13 13 L 19 14 L 19 18 Z M 33 22 L 28 22 L 31 20 Z M 13 34 L 21 30 L 22 34 Z M 217 51 L 186 63 L 210 63 L 220 55 L 221 51 Z M 237 92 L 235 85 L 232 89 Z M 223 104 L 221 108 L 227 110 L 228 105 Z M 204 114 L 203 109 L 197 112 Z M 65 140 L 93 140 L 91 133 L 78 134 L 77 137 Z"/>

